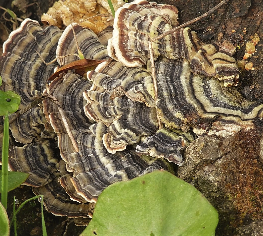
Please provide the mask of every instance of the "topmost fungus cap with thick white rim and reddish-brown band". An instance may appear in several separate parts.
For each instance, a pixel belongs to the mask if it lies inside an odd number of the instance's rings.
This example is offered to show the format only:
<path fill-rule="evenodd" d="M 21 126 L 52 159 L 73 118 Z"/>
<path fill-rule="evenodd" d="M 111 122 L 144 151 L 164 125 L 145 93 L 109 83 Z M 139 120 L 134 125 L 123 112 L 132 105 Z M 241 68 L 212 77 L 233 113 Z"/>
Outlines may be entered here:
<path fill-rule="evenodd" d="M 171 5 L 134 1 L 125 4 L 115 14 L 112 46 L 115 57 L 125 66 L 142 66 L 149 58 L 149 38 L 177 25 L 178 9 Z M 160 55 L 158 44 L 153 46 L 155 57 Z M 109 54 L 113 54 L 108 47 Z"/>

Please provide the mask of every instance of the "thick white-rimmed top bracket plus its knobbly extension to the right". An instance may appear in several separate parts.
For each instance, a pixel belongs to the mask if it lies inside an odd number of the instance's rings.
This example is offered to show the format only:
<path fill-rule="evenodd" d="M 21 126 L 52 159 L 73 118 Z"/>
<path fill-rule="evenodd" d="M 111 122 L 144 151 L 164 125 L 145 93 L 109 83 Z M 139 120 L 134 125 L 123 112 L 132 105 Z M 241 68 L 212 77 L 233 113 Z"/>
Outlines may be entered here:
<path fill-rule="evenodd" d="M 135 0 L 119 8 L 114 18 L 113 37 L 108 53 L 129 67 L 145 65 L 150 58 L 149 40 L 178 25 L 178 9 L 164 4 Z M 190 28 L 182 28 L 153 44 L 155 59 L 160 55 L 189 60 L 191 70 L 224 80 L 225 86 L 237 85 L 239 70 L 233 46 L 224 42 L 205 45 Z M 230 48 L 228 48 L 230 47 Z"/>

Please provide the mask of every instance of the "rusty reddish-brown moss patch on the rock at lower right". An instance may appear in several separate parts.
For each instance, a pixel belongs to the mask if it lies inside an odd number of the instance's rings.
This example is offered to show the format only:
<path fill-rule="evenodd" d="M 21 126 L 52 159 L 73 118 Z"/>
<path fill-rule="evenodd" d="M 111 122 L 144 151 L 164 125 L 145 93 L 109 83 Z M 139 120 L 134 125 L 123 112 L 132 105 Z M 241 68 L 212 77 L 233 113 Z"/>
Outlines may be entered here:
<path fill-rule="evenodd" d="M 239 214 L 232 226 L 242 224 L 245 217 L 263 219 L 263 163 L 259 157 L 261 134 L 257 131 L 239 132 L 229 138 L 229 153 L 222 171 L 228 180 L 225 193 Z M 223 174 L 223 173 L 222 173 Z"/>

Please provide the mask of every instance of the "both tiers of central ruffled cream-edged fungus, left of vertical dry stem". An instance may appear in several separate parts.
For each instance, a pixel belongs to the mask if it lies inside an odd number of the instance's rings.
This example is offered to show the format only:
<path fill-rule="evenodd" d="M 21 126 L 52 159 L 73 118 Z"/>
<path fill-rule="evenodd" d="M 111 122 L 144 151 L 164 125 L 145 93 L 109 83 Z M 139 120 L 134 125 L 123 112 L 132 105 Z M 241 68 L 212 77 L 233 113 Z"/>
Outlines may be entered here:
<path fill-rule="evenodd" d="M 112 77 L 103 74 L 108 73 L 109 66 Z M 90 119 L 109 126 L 103 136 L 109 153 L 124 150 L 127 145 L 139 142 L 141 136 L 153 134 L 157 130 L 155 109 L 134 103 L 124 96 L 127 89 L 139 84 L 144 78 L 142 76 L 149 73 L 125 67 L 119 62 L 104 63 L 96 70 L 100 73 L 91 71 L 87 74 L 93 85 L 84 93 L 88 101 L 84 109 Z"/>

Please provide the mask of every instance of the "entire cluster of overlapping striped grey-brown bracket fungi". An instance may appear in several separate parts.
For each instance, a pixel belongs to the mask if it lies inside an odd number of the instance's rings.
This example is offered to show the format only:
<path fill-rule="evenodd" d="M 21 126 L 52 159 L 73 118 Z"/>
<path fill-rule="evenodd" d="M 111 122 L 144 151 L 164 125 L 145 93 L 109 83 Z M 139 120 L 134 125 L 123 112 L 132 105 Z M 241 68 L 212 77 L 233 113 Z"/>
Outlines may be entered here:
<path fill-rule="evenodd" d="M 174 6 L 136 0 L 118 9 L 114 29 L 74 25 L 84 57 L 104 62 L 87 75 L 63 71 L 49 85 L 58 65 L 77 60 L 71 25 L 63 32 L 26 19 L 4 43 L 3 89 L 24 106 L 38 103 L 10 125 L 9 168 L 31 174 L 25 184 L 44 195 L 48 211 L 87 224 L 110 184 L 173 171 L 170 162 L 183 164 L 196 135 L 227 136 L 262 119 L 263 104 L 231 86 L 239 77 L 233 46 L 204 44 L 190 28 L 153 42 L 155 97 L 148 41 L 177 18 Z"/>

